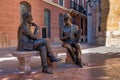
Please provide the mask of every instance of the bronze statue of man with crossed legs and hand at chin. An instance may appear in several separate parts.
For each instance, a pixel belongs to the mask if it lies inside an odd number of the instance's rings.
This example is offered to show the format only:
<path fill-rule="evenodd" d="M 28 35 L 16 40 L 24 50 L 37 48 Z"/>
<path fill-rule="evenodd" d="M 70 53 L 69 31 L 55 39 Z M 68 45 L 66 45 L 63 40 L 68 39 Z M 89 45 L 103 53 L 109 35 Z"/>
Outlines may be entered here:
<path fill-rule="evenodd" d="M 17 50 L 18 51 L 38 50 L 41 56 L 41 62 L 43 67 L 42 72 L 52 74 L 47 63 L 47 57 L 50 58 L 51 62 L 57 62 L 60 61 L 60 59 L 56 58 L 53 55 L 50 44 L 46 39 L 37 38 L 39 28 L 35 23 L 32 22 L 33 18 L 31 13 L 26 12 L 22 15 L 22 17 L 23 22 L 18 28 Z M 35 27 L 34 33 L 32 33 L 30 29 L 31 26 Z"/>

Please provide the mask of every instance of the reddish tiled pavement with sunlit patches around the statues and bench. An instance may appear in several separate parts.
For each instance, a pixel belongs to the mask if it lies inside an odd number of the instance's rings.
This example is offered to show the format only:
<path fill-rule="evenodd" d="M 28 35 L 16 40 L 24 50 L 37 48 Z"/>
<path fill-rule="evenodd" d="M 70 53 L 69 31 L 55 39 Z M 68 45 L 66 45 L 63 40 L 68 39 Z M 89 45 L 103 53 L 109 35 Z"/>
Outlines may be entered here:
<path fill-rule="evenodd" d="M 32 74 L 20 74 L 16 69 L 16 58 L 9 53 L 15 48 L 0 49 L 0 80 L 120 80 L 120 48 L 89 44 L 81 46 L 84 68 L 65 64 L 63 53 L 58 56 L 62 61 L 55 63 L 52 68 L 52 75 L 41 72 L 39 57 L 33 57 L 31 60 Z"/>

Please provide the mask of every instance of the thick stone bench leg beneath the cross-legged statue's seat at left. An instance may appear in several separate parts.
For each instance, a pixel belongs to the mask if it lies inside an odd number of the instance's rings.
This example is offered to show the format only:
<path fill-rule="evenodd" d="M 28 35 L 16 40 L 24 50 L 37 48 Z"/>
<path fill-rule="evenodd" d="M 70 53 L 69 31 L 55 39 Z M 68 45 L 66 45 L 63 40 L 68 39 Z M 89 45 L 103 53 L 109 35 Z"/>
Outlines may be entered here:
<path fill-rule="evenodd" d="M 21 71 L 30 72 L 31 67 L 30 67 L 30 60 L 31 57 L 18 57 L 18 69 Z"/>

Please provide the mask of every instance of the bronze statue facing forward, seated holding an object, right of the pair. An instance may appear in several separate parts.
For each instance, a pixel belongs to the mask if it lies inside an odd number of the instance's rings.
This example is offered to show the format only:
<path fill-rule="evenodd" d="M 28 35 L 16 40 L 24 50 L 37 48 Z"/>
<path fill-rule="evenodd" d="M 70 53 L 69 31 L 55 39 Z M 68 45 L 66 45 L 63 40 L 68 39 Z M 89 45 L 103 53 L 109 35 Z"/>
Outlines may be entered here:
<path fill-rule="evenodd" d="M 64 14 L 64 23 L 65 25 L 61 27 L 60 31 L 60 40 L 62 40 L 63 47 L 67 49 L 74 63 L 82 67 L 82 52 L 79 43 L 81 30 L 78 30 L 78 26 L 71 23 L 69 14 Z"/>

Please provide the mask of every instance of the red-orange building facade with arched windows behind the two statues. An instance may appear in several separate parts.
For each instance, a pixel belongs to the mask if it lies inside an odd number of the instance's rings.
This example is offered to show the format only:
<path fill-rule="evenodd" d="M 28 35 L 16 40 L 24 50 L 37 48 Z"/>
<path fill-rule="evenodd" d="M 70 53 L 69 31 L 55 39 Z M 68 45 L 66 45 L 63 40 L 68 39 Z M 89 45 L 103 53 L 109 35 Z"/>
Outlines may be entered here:
<path fill-rule="evenodd" d="M 63 26 L 64 13 L 70 13 L 72 22 L 86 36 L 85 0 L 1 0 L 0 2 L 0 47 L 17 45 L 17 29 L 22 14 L 31 12 L 33 21 L 40 27 L 38 37 L 50 42 L 59 42 L 59 28 Z M 82 27 L 81 27 L 82 26 Z"/>

